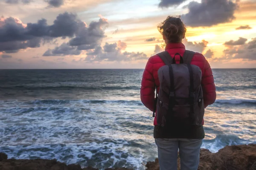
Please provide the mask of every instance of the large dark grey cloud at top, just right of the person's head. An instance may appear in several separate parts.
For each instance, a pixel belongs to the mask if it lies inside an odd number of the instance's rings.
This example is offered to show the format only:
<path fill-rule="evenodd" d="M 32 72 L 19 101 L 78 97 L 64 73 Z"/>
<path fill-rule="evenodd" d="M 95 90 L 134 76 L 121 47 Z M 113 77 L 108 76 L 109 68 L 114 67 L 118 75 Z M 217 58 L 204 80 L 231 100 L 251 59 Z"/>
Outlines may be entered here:
<path fill-rule="evenodd" d="M 188 5 L 189 12 L 181 15 L 181 18 L 186 26 L 213 26 L 234 20 L 237 8 L 237 3 L 231 0 L 202 0 L 201 3 L 192 1 Z"/>

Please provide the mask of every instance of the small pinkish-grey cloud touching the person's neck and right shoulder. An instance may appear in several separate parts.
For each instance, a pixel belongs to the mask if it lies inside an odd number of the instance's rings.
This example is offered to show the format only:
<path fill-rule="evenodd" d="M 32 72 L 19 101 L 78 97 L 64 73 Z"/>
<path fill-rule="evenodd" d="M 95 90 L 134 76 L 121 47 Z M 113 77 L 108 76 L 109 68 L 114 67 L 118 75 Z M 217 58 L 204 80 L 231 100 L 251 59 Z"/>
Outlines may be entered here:
<path fill-rule="evenodd" d="M 187 50 L 195 51 L 198 53 L 202 53 L 204 49 L 207 47 L 208 42 L 206 40 L 202 40 L 202 42 L 189 42 L 186 38 L 183 39 L 183 44 L 185 45 Z"/>

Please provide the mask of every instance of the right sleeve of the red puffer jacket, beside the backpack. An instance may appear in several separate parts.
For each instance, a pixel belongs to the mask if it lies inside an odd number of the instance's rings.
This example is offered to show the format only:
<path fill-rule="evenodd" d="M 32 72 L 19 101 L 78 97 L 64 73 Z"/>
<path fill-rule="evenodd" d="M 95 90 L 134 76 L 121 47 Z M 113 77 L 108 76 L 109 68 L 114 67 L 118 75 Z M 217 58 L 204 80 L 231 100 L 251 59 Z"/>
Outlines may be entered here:
<path fill-rule="evenodd" d="M 208 105 L 212 105 L 216 99 L 216 88 L 212 75 L 212 69 L 207 60 L 205 62 L 204 75 L 202 77 L 201 84 L 203 88 L 204 108 L 206 108 Z"/>

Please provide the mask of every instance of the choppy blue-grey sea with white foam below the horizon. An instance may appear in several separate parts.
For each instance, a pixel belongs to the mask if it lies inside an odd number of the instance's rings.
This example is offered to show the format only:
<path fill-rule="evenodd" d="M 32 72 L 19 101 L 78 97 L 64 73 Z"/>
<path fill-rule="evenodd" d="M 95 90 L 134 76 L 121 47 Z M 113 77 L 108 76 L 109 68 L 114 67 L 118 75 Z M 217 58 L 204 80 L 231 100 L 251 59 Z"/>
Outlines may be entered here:
<path fill-rule="evenodd" d="M 0 70 L 0 153 L 100 170 L 157 158 L 143 69 Z M 213 69 L 202 148 L 256 143 L 256 69 Z"/>

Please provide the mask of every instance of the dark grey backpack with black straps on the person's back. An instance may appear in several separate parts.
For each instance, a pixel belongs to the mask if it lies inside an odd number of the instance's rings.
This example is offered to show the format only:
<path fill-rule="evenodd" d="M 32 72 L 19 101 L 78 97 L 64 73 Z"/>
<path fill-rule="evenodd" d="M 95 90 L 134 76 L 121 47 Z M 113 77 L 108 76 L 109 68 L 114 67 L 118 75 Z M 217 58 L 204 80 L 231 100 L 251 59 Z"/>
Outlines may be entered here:
<path fill-rule="evenodd" d="M 202 71 L 191 65 L 195 52 L 186 50 L 176 64 L 175 56 L 167 51 L 157 54 L 165 63 L 158 70 L 160 90 L 155 98 L 157 125 L 202 125 L 204 117 L 204 99 L 201 87 Z"/>

